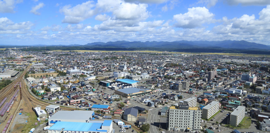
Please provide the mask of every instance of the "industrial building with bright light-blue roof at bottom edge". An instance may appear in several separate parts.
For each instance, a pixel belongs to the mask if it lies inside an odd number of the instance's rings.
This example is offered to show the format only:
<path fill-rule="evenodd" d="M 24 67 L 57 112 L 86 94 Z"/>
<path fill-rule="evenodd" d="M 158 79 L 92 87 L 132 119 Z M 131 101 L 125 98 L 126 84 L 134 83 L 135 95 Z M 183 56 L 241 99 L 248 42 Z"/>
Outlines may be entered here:
<path fill-rule="evenodd" d="M 113 133 L 112 120 L 85 122 L 56 122 L 48 133 Z"/>

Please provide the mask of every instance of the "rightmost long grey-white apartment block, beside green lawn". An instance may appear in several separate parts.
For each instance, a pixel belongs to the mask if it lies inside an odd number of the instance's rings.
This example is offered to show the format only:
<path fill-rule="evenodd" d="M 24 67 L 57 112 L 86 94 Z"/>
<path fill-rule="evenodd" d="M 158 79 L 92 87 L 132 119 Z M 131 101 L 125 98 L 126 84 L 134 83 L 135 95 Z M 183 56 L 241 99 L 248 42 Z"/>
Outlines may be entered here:
<path fill-rule="evenodd" d="M 245 116 L 245 107 L 238 106 L 230 115 L 230 124 L 234 127 L 237 127 L 237 125 L 241 122 L 244 116 Z"/>

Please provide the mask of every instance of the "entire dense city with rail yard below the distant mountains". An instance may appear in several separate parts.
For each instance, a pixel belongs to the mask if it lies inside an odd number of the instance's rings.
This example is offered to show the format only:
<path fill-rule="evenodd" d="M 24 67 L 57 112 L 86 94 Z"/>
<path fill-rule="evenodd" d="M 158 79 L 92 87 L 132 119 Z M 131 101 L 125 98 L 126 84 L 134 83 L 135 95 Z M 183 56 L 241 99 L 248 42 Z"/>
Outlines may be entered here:
<path fill-rule="evenodd" d="M 0 129 L 269 132 L 269 63 L 254 55 L 5 49 Z"/>

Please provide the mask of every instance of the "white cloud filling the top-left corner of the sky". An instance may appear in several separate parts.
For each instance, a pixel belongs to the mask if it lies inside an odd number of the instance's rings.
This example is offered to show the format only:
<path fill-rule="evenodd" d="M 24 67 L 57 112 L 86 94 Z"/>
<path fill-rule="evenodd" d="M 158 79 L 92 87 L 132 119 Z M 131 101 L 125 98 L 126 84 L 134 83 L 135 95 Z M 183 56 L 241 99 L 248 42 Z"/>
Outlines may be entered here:
<path fill-rule="evenodd" d="M 22 0 L 0 0 L 1 13 L 13 13 L 15 5 L 22 2 Z"/>

